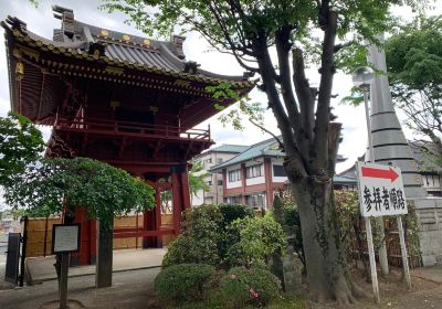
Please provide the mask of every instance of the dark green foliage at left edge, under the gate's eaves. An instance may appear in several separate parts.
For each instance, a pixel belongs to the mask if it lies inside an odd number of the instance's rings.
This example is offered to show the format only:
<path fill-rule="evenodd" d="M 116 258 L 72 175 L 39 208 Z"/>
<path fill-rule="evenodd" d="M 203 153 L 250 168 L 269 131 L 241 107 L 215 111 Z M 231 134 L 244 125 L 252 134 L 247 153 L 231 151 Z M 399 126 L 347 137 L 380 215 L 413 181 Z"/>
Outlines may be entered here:
<path fill-rule="evenodd" d="M 0 185 L 41 158 L 43 150 L 42 134 L 31 120 L 15 113 L 0 117 Z"/>

